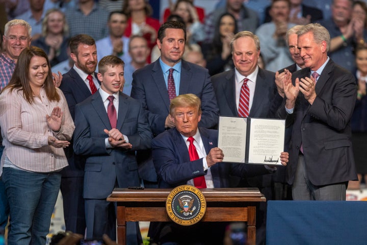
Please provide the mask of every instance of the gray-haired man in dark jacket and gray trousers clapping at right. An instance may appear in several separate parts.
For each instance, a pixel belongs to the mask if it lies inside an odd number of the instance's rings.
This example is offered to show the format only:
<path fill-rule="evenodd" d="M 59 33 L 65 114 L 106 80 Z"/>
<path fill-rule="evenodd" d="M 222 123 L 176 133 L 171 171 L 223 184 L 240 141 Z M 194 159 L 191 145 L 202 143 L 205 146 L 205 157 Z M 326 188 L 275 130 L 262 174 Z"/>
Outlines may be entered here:
<path fill-rule="evenodd" d="M 326 28 L 307 24 L 297 35 L 306 68 L 285 70 L 277 111 L 293 127 L 286 180 L 294 200 L 346 200 L 348 181 L 357 180 L 350 140 L 355 78 L 328 57 Z"/>

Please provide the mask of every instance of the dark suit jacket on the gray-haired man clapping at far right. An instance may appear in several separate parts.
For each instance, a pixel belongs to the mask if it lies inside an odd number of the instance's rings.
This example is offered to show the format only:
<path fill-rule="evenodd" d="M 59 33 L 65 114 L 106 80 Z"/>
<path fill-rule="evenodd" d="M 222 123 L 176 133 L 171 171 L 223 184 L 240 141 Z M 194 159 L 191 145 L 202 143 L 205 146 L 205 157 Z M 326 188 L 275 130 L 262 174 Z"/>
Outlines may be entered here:
<path fill-rule="evenodd" d="M 310 76 L 310 69 L 294 72 L 296 78 Z M 300 92 L 294 112 L 287 114 L 284 103 L 277 112 L 293 125 L 287 182 L 293 183 L 301 143 L 309 180 L 313 185 L 329 185 L 357 180 L 350 118 L 356 100 L 354 76 L 331 59 L 316 84 L 317 97 L 310 105 Z"/>

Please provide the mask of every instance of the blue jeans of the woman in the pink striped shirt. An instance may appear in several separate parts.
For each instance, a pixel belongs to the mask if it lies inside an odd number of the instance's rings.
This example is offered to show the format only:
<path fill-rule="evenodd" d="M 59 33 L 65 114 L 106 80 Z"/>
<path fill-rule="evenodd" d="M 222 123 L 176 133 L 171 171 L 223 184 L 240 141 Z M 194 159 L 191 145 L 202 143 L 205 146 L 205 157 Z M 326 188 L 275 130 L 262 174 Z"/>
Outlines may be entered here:
<path fill-rule="evenodd" d="M 8 245 L 44 245 L 59 193 L 60 173 L 3 168 L 10 205 Z"/>

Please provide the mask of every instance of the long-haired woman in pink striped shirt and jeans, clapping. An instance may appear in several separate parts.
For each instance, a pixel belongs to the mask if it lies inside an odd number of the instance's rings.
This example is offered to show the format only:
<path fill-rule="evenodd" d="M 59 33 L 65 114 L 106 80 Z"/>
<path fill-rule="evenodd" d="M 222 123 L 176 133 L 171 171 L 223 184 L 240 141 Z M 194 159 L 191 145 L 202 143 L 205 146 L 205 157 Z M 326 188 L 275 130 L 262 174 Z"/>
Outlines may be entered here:
<path fill-rule="evenodd" d="M 0 126 L 5 146 L 0 174 L 10 205 L 8 244 L 45 244 L 67 166 L 63 148 L 74 123 L 56 88 L 46 53 L 26 47 L 0 94 Z M 1 173 L 2 172 L 2 173 Z"/>

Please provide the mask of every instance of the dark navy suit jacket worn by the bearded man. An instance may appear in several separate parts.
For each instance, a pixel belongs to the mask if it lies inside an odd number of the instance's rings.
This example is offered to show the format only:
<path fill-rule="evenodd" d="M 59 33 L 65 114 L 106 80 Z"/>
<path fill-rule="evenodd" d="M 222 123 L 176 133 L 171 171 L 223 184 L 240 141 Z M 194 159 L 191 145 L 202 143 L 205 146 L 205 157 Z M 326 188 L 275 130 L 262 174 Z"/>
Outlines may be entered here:
<path fill-rule="evenodd" d="M 95 73 L 97 78 L 97 74 Z M 99 82 L 99 81 L 98 81 Z M 89 96 L 92 95 L 89 88 L 77 74 L 74 68 L 70 68 L 68 72 L 63 75 L 63 79 L 60 85 L 61 91 L 65 95 L 66 102 L 68 103 L 71 117 L 74 120 L 75 117 L 75 105 L 81 103 Z M 68 159 L 69 166 L 62 170 L 63 177 L 83 177 L 85 159 L 82 156 L 77 156 L 72 150 L 73 140 L 70 142 L 70 146 L 65 148 L 65 155 Z"/>

